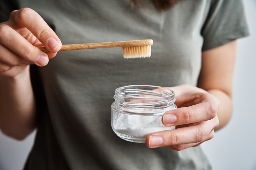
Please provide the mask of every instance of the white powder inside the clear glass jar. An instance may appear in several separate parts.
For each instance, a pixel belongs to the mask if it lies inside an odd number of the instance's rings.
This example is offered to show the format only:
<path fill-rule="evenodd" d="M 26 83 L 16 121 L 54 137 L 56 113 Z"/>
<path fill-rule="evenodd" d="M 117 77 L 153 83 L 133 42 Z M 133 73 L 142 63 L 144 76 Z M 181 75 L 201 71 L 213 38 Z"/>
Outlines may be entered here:
<path fill-rule="evenodd" d="M 117 133 L 135 138 L 145 138 L 153 132 L 173 130 L 175 126 L 164 126 L 162 116 L 128 115 L 114 111 L 113 127 Z"/>

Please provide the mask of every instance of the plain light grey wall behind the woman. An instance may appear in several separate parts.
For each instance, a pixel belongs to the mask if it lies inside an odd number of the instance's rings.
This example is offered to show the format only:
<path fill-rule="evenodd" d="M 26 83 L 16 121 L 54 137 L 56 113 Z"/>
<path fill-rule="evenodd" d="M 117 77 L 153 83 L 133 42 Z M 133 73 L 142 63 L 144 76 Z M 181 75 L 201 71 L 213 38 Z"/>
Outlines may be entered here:
<path fill-rule="evenodd" d="M 234 72 L 234 112 L 230 123 L 201 146 L 213 170 L 256 170 L 256 0 L 244 0 L 250 37 L 238 41 Z M 21 170 L 35 132 L 16 141 L 0 132 L 0 170 Z"/>

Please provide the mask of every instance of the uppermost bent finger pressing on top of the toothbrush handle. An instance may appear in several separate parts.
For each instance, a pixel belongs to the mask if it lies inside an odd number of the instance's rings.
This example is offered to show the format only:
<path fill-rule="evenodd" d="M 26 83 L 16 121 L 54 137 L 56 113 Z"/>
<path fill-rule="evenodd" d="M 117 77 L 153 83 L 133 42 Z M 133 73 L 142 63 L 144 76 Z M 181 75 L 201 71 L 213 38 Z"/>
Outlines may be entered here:
<path fill-rule="evenodd" d="M 30 8 L 14 11 L 10 20 L 19 27 L 26 27 L 50 52 L 58 52 L 61 41 L 43 18 Z"/>

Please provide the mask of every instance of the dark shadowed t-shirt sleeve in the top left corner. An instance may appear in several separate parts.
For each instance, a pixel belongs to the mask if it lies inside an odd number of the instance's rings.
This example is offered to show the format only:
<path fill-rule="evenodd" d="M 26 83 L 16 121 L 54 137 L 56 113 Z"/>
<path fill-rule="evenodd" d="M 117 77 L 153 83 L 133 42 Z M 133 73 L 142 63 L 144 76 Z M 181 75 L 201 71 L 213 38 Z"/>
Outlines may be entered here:
<path fill-rule="evenodd" d="M 0 0 L 0 23 L 8 21 L 10 13 L 17 9 L 17 4 L 13 0 Z"/>

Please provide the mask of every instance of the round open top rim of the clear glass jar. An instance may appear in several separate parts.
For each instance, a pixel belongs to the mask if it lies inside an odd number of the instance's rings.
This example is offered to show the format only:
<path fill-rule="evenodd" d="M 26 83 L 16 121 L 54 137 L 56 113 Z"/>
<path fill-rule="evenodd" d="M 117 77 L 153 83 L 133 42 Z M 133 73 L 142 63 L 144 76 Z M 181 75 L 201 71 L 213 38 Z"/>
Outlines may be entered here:
<path fill-rule="evenodd" d="M 134 88 L 134 87 L 137 87 L 137 88 Z M 138 88 L 138 87 L 144 87 L 144 88 L 150 87 L 150 88 L 155 88 L 155 89 L 163 89 L 166 91 L 162 91 L 162 93 L 157 92 L 157 91 L 154 91 L 154 92 L 151 91 L 151 93 L 154 93 L 154 95 L 160 94 L 159 96 L 154 96 L 154 97 L 131 96 L 131 95 L 127 95 L 127 94 L 123 93 L 125 89 L 127 90 L 129 88 L 131 88 L 132 90 L 140 90 L 140 88 Z M 148 90 L 148 91 L 150 91 L 150 90 Z M 161 98 L 168 98 L 168 97 L 174 98 L 174 94 L 175 94 L 174 91 L 170 88 L 154 86 L 154 85 L 128 85 L 128 86 L 118 87 L 115 89 L 115 95 L 122 96 L 122 97 L 140 98 L 140 99 L 152 99 L 152 98 L 161 99 Z"/>

